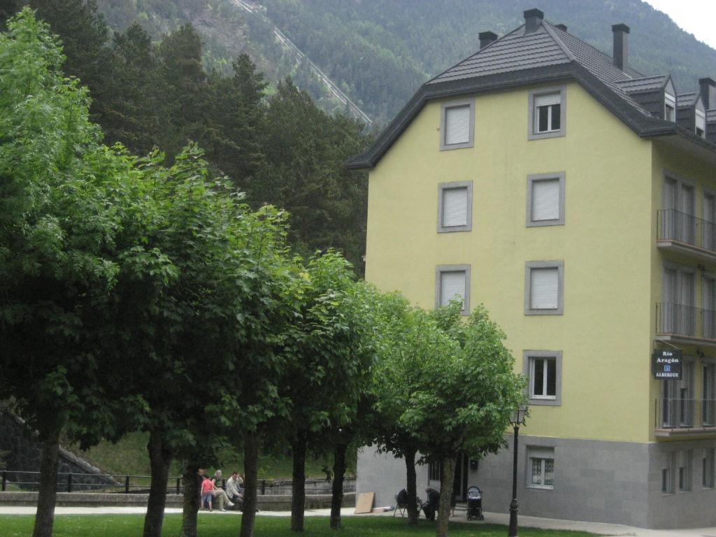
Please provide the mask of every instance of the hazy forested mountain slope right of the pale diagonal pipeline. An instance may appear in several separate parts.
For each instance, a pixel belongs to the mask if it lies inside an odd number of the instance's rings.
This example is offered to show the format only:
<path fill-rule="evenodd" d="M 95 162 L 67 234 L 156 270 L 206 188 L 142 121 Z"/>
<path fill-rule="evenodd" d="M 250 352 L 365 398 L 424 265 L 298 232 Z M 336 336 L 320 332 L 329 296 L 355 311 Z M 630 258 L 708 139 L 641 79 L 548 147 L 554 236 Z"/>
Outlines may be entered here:
<path fill-rule="evenodd" d="M 611 25 L 632 32 L 632 67 L 670 72 L 679 92 L 716 78 L 716 50 L 640 0 L 261 0 L 329 76 L 379 120 L 389 119 L 429 77 L 479 49 L 478 33 L 503 35 L 537 7 L 546 19 L 611 54 Z"/>

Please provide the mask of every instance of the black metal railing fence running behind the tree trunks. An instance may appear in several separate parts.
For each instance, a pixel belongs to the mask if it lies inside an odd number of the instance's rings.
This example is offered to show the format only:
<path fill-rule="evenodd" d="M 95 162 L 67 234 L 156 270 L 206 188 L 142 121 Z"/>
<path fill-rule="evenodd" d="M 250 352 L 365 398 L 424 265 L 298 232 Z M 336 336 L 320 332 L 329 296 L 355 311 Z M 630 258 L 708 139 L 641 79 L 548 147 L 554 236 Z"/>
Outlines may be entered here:
<path fill-rule="evenodd" d="M 12 485 L 20 490 L 39 490 L 39 472 L 24 470 L 0 470 L 0 490 L 6 491 Z M 116 475 L 116 474 L 85 474 L 85 473 L 58 473 L 58 492 L 101 492 L 142 494 L 148 493 L 151 483 L 149 475 Z M 332 482 L 319 479 L 308 479 L 305 482 L 306 493 L 330 494 Z M 221 480 L 221 487 L 226 489 L 226 480 Z M 258 480 L 258 493 L 261 495 L 290 495 L 293 484 L 291 480 L 260 479 Z M 170 478 L 167 482 L 168 494 L 182 494 L 184 491 L 182 478 Z M 346 479 L 343 485 L 344 492 L 355 491 L 355 480 Z"/>

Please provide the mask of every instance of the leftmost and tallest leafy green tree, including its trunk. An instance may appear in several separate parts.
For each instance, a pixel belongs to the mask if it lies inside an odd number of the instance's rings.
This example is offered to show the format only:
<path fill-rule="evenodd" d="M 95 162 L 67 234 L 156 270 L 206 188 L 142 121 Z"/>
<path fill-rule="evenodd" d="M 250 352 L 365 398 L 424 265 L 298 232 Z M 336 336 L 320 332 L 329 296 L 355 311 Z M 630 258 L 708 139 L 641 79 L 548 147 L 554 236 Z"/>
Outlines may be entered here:
<path fill-rule="evenodd" d="M 87 442 L 112 413 L 96 312 L 117 275 L 113 156 L 63 59 L 29 9 L 0 34 L 0 397 L 14 397 L 42 442 L 35 537 L 52 535 L 60 430 L 74 423 Z"/>

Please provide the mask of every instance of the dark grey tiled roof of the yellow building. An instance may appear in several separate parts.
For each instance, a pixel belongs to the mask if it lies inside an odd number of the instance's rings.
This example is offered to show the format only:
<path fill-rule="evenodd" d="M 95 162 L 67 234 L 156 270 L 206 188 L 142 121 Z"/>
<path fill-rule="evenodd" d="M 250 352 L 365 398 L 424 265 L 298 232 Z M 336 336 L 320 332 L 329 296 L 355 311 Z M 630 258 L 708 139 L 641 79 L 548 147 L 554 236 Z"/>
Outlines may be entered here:
<path fill-rule="evenodd" d="M 654 117 L 632 98 L 632 95 L 636 97 L 642 92 L 662 89 L 669 75 L 644 77 L 629 67 L 619 69 L 609 54 L 548 21 L 542 21 L 534 32 L 526 34 L 525 26 L 520 26 L 423 84 L 373 145 L 362 155 L 349 160 L 347 166 L 374 166 L 427 101 L 570 79 L 579 82 L 639 136 L 679 134 L 715 149 L 705 140 L 687 136 L 687 131 L 675 123 Z M 693 105 L 697 94 L 687 95 L 694 97 L 679 95 L 679 107 L 684 102 Z"/>

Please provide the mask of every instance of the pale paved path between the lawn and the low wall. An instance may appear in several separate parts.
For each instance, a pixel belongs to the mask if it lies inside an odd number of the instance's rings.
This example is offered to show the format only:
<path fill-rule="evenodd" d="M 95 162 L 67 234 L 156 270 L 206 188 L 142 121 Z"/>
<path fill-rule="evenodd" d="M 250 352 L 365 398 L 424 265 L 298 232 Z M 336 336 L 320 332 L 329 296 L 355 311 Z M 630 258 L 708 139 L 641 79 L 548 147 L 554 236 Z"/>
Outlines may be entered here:
<path fill-rule="evenodd" d="M 354 508 L 347 507 L 341 510 L 342 516 L 354 516 Z M 146 508 L 143 507 L 58 507 L 55 509 L 56 515 L 120 515 L 135 514 L 143 515 Z M 34 507 L 4 507 L 0 506 L 0 515 L 34 515 Z M 165 513 L 181 513 L 179 508 L 167 508 Z M 329 516 L 330 509 L 312 509 L 306 510 L 306 516 Z M 238 511 L 200 511 L 200 516 L 237 516 Z M 392 512 L 376 513 L 373 515 L 357 515 L 357 516 L 392 516 Z M 289 511 L 261 511 L 259 516 L 291 516 Z M 451 518 L 451 521 L 465 522 L 465 511 L 458 511 L 457 516 Z M 504 513 L 485 513 L 485 522 L 494 524 L 508 525 L 510 516 Z M 480 524 L 482 522 L 473 521 L 472 523 Z M 599 533 L 607 536 L 630 536 L 630 537 L 716 537 L 716 528 L 696 528 L 687 530 L 644 530 L 642 528 L 633 528 L 632 526 L 619 526 L 617 524 L 600 524 L 596 522 L 576 522 L 561 521 L 553 518 L 537 518 L 534 516 L 521 516 L 519 518 L 520 526 L 532 528 L 544 528 L 553 530 L 577 530 L 589 531 L 591 533 Z"/>

